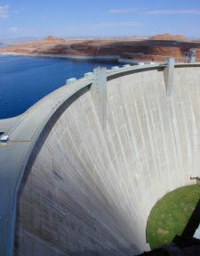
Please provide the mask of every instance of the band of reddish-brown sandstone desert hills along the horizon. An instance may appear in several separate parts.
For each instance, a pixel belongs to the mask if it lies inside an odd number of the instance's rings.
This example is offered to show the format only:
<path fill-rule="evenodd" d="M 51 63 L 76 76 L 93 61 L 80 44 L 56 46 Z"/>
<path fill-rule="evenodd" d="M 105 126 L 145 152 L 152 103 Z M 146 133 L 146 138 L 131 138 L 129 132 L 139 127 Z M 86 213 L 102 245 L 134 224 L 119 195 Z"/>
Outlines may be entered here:
<path fill-rule="evenodd" d="M 71 57 L 109 55 L 143 62 L 164 62 L 166 57 L 172 56 L 177 62 L 184 62 L 184 53 L 189 50 L 196 50 L 196 59 L 200 61 L 200 40 L 188 40 L 180 35 L 68 40 L 49 36 L 41 41 L 1 48 L 0 54 L 54 54 Z"/>

